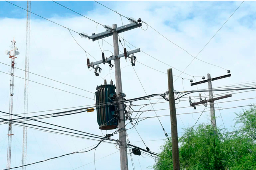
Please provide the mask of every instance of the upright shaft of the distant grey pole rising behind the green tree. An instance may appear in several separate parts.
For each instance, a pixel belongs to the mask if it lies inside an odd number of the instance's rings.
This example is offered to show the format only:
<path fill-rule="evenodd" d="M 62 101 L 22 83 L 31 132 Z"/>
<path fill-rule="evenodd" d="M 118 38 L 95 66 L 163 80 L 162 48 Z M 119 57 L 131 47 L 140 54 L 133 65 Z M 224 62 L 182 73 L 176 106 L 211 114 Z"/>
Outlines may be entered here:
<path fill-rule="evenodd" d="M 209 100 L 210 100 L 210 113 L 211 113 L 211 123 L 213 127 L 216 127 L 216 118 L 215 118 L 215 109 L 214 109 L 214 101 L 212 95 L 212 79 L 211 74 L 207 74 L 208 81 L 208 90 L 209 90 Z"/>

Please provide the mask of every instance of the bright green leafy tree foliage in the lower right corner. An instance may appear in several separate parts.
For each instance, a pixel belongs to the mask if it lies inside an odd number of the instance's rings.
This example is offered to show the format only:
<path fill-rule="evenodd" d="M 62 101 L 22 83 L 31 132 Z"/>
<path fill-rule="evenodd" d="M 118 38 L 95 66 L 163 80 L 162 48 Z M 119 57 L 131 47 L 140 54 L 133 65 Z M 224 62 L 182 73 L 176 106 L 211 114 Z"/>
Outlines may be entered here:
<path fill-rule="evenodd" d="M 236 113 L 235 127 L 225 132 L 202 124 L 184 129 L 179 138 L 182 170 L 256 170 L 256 107 Z M 172 145 L 161 147 L 155 170 L 171 170 Z"/>

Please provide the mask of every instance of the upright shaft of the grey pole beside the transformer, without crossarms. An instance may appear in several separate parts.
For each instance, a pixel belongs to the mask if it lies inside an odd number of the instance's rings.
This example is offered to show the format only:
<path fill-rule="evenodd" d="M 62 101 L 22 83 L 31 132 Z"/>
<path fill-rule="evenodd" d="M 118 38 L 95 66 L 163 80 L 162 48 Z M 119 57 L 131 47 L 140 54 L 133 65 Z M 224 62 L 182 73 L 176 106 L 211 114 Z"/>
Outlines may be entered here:
<path fill-rule="evenodd" d="M 113 29 L 117 28 L 117 24 L 113 24 Z M 113 32 L 113 41 L 114 41 L 114 55 L 119 55 L 118 47 L 118 37 L 117 32 Z M 115 77 L 116 77 L 116 86 L 117 86 L 117 100 L 122 101 L 123 96 L 120 94 L 123 93 L 122 89 L 122 79 L 121 79 L 121 67 L 120 67 L 120 58 L 116 58 L 115 62 Z M 125 118 L 124 118 L 124 103 L 118 104 L 119 111 L 119 122 L 118 122 L 118 131 L 119 131 L 119 140 L 120 140 L 120 164 L 121 170 L 128 170 L 128 158 L 127 158 L 127 146 L 126 146 L 126 127 L 125 127 Z"/>

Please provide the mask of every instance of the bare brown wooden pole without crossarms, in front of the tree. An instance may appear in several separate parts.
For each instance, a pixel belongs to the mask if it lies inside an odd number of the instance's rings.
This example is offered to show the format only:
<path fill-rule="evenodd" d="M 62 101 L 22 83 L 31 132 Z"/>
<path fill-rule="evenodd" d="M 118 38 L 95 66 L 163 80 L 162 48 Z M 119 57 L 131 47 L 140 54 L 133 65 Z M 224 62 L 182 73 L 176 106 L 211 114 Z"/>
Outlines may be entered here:
<path fill-rule="evenodd" d="M 179 144 L 178 144 L 178 130 L 177 130 L 177 118 L 176 108 L 173 92 L 173 79 L 172 69 L 168 69 L 168 89 L 169 89 L 169 106 L 171 115 L 171 132 L 172 132 L 172 162 L 173 170 L 180 170 L 179 167 Z"/>

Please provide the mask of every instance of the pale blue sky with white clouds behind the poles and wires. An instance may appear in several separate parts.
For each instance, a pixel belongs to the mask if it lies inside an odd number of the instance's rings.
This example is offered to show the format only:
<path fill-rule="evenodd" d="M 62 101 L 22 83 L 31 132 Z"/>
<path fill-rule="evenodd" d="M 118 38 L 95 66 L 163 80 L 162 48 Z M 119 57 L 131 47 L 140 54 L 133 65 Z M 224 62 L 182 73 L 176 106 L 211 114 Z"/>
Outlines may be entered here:
<path fill-rule="evenodd" d="M 12 1 L 26 9 L 26 1 Z M 77 11 L 103 25 L 112 26 L 117 23 L 117 26 L 122 25 L 119 15 L 110 11 L 93 1 L 58 1 L 74 11 Z M 235 11 L 242 1 L 102 1 L 102 4 L 109 6 L 113 10 L 127 17 L 142 18 L 150 26 L 158 30 L 172 42 L 187 50 L 192 55 L 197 53 L 205 46 L 212 38 L 216 31 L 222 26 L 228 17 Z M 253 73 L 256 72 L 255 56 L 256 56 L 256 3 L 255 1 L 245 1 L 230 20 L 222 27 L 215 35 L 211 42 L 198 55 L 198 58 L 206 62 L 219 65 L 225 69 L 230 69 L 232 77 L 221 79 L 212 82 L 212 86 L 225 86 L 228 84 L 239 83 L 244 81 L 255 80 Z M 74 29 L 79 33 L 84 32 L 90 35 L 91 33 L 103 32 L 105 29 L 88 19 L 69 11 L 68 9 L 55 4 L 52 1 L 31 1 L 31 11 L 49 18 L 52 21 L 60 23 L 63 26 Z M 123 19 L 123 23 L 128 24 L 128 20 Z M 13 24 L 16 24 L 13 27 Z M 18 9 L 13 5 L 0 1 L 0 61 L 6 64 L 10 63 L 9 57 L 4 55 L 4 51 L 9 48 L 10 41 L 15 35 L 16 45 L 19 47 L 20 55 L 15 60 L 16 67 L 24 69 L 25 67 L 25 46 L 26 46 L 26 11 Z M 61 81 L 81 89 L 85 89 L 94 93 L 95 88 L 103 84 L 104 79 L 109 82 L 113 79 L 114 84 L 114 69 L 110 70 L 108 65 L 102 65 L 100 77 L 96 77 L 93 71 L 89 71 L 86 67 L 86 55 L 84 51 L 77 45 L 69 31 L 66 28 L 55 25 L 49 21 L 41 19 L 31 14 L 30 28 L 30 60 L 29 70 L 35 74 L 39 74 L 57 81 Z M 92 42 L 91 40 L 81 38 L 78 34 L 72 35 L 76 41 L 87 52 L 94 56 L 97 60 L 101 59 L 101 49 L 113 52 L 113 47 L 101 40 Z M 122 36 L 123 34 L 120 34 Z M 193 57 L 181 50 L 179 47 L 170 43 L 168 40 L 161 37 L 151 28 L 143 31 L 136 28 L 124 33 L 124 39 L 133 44 L 135 47 L 141 48 L 142 51 L 161 60 L 164 63 L 171 65 L 179 70 L 185 67 L 193 60 Z M 105 38 L 108 43 L 112 44 L 112 37 Z M 99 47 L 100 46 L 100 47 Z M 130 46 L 130 45 L 129 45 Z M 132 50 L 134 47 L 130 46 Z M 101 49 L 100 49 L 101 48 Z M 129 50 L 129 47 L 126 46 Z M 119 46 L 119 50 L 123 50 Z M 105 51 L 105 56 L 112 55 L 111 52 Z M 169 66 L 158 62 L 149 55 L 143 52 L 136 54 L 137 60 L 149 67 L 157 69 L 161 72 L 167 72 Z M 89 57 L 92 61 L 92 57 Z M 127 67 L 125 67 L 127 66 Z M 121 67 L 125 67 L 122 72 L 123 92 L 127 94 L 127 98 L 135 98 L 144 96 L 144 90 L 147 94 L 162 93 L 167 90 L 167 75 L 157 72 L 149 67 L 137 63 L 134 67 L 140 81 L 138 80 L 134 70 L 129 62 L 121 60 Z M 207 76 L 210 73 L 212 77 L 218 77 L 227 74 L 225 69 L 220 69 L 213 65 L 203 63 L 199 60 L 194 60 L 186 69 L 185 73 L 195 76 L 182 74 L 181 78 L 174 83 L 174 88 L 177 91 L 197 90 L 207 88 L 207 84 L 190 86 L 189 80 L 200 81 L 200 77 Z M 0 70 L 8 73 L 8 66 L 0 65 Z M 109 74 L 111 73 L 111 74 Z M 173 70 L 174 75 L 179 75 L 180 72 Z M 15 70 L 15 75 L 24 77 L 24 72 Z M 1 111 L 9 111 L 9 75 L 0 73 L 0 108 Z M 54 86 L 59 89 L 77 93 L 89 98 L 94 98 L 94 94 L 74 89 L 70 86 L 64 86 L 47 79 L 29 74 L 29 79 L 39 83 Z M 14 113 L 23 113 L 24 100 L 24 80 L 14 79 Z M 131 88 L 132 87 L 132 88 Z M 215 94 L 218 94 L 216 92 Z M 207 95 L 207 94 L 206 94 Z M 232 95 L 232 98 L 226 98 L 222 101 L 238 100 L 242 98 L 255 97 L 255 91 L 249 93 L 239 93 Z M 193 96 L 198 96 L 193 94 Z M 194 98 L 192 96 L 192 99 Z M 184 98 L 184 100 L 187 98 Z M 194 100 L 194 99 L 193 99 Z M 156 101 L 156 100 L 152 100 Z M 161 100 L 163 101 L 163 100 Z M 220 102 L 222 102 L 220 101 Z M 139 101 L 134 104 L 148 104 L 148 101 Z M 241 105 L 255 103 L 255 100 L 243 100 L 230 103 L 219 103 L 219 107 L 229 108 Z M 29 112 L 38 110 L 51 110 L 66 107 L 84 106 L 94 104 L 94 100 L 74 96 L 70 93 L 58 91 L 33 82 L 29 83 Z M 189 106 L 188 101 L 181 101 L 177 104 L 178 107 Z M 168 108 L 168 103 L 156 104 L 154 109 Z M 209 107 L 209 105 L 207 105 Z M 135 106 L 134 110 L 139 110 L 140 106 Z M 217 106 L 215 105 L 215 108 Z M 145 107 L 145 110 L 151 109 L 150 106 Z M 177 109 L 177 113 L 192 113 L 200 112 L 204 106 L 198 106 L 196 110 L 191 107 Z M 206 110 L 209 110 L 207 108 Z M 232 130 L 232 119 L 235 118 L 234 112 L 240 112 L 239 109 L 221 110 L 222 118 L 225 127 Z M 49 112 L 47 112 L 49 113 Z M 168 115 L 168 110 L 157 111 L 157 115 Z M 136 115 L 133 114 L 133 115 Z M 154 116 L 154 112 L 147 113 L 147 116 Z M 182 134 L 182 128 L 189 127 L 195 124 L 200 113 L 186 114 L 177 116 L 178 134 Z M 0 114 L 0 116 L 3 116 Z M 145 115 L 142 115 L 145 116 Z M 217 126 L 223 128 L 220 112 L 216 111 Z M 169 117 L 160 117 L 160 120 L 167 131 L 170 133 Z M 45 119 L 44 121 L 54 123 L 85 132 L 102 135 L 98 129 L 97 118 L 95 112 L 86 114 L 77 114 L 67 117 Z M 209 112 L 205 112 L 199 119 L 198 123 L 209 123 Z M 40 124 L 41 125 L 41 124 Z M 130 126 L 129 126 L 130 127 Z M 129 128 L 128 127 L 128 128 Z M 4 169 L 6 164 L 6 132 L 7 125 L 0 125 L 0 169 Z M 162 127 L 157 119 L 146 119 L 141 121 L 137 126 L 137 130 L 142 136 L 146 144 L 153 152 L 159 152 L 159 147 L 165 139 Z M 21 150 L 22 150 L 22 128 L 14 127 L 15 137 L 13 138 L 13 153 L 12 166 L 20 165 Z M 105 132 L 103 132 L 105 134 Z M 135 141 L 133 144 L 144 148 L 136 131 L 129 130 L 129 140 Z M 117 139 L 118 136 L 114 136 Z M 150 141 L 158 140 L 158 141 Z M 82 140 L 77 138 L 66 137 L 63 135 L 54 135 L 37 130 L 28 130 L 28 163 L 44 160 L 50 157 L 59 156 L 74 152 L 97 142 Z M 100 159 L 106 155 L 116 152 L 115 145 L 101 144 L 96 150 L 95 159 Z M 93 162 L 94 152 L 77 154 L 73 156 L 63 157 L 54 161 L 48 161 L 35 166 L 28 166 L 30 169 L 74 169 L 78 166 Z M 140 161 L 138 161 L 138 159 Z M 150 157 L 133 157 L 136 169 L 140 169 L 140 164 L 143 170 L 154 164 L 154 160 Z M 80 161 L 81 160 L 81 161 Z M 118 170 L 119 153 L 113 154 L 104 159 L 96 161 L 97 169 Z M 106 164 L 111 162 L 111 167 L 106 167 Z M 88 164 L 80 169 L 94 169 L 94 164 Z M 129 169 L 132 169 L 129 158 Z M 79 170 L 79 169 L 78 169 Z"/>

